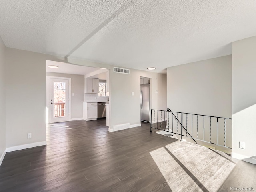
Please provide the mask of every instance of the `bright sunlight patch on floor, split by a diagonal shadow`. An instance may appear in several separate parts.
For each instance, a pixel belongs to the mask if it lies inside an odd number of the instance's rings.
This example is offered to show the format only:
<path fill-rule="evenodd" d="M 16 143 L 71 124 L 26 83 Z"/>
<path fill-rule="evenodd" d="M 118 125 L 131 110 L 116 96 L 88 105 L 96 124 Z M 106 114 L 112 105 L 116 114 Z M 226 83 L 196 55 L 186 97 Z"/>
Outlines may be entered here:
<path fill-rule="evenodd" d="M 173 192 L 217 192 L 236 165 L 223 152 L 180 141 L 150 155 Z"/>

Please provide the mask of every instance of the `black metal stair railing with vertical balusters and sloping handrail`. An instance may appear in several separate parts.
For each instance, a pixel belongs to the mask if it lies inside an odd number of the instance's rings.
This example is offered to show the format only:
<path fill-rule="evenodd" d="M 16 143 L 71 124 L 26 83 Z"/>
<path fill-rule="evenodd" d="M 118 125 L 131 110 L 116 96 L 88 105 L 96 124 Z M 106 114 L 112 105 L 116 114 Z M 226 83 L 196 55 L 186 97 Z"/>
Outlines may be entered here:
<path fill-rule="evenodd" d="M 189 124 L 188 119 L 190 121 Z M 152 109 L 150 119 L 150 132 L 152 132 L 152 128 L 154 128 L 180 135 L 180 140 L 186 136 L 188 138 L 192 138 L 196 144 L 198 144 L 198 142 L 196 142 L 197 140 L 223 146 L 226 148 L 231 148 L 226 145 L 226 121 L 232 122 L 232 119 L 184 112 L 172 112 L 169 108 L 167 108 L 166 111 Z M 207 122 L 209 122 L 208 126 L 206 126 Z M 183 130 L 186 134 L 184 134 Z M 189 132 L 189 130 L 191 132 Z M 219 132 L 219 130 L 221 132 Z M 208 137 L 206 132 L 209 132 Z M 213 133 L 214 138 L 212 138 Z M 223 135 L 220 137 L 219 134 L 222 133 Z"/>

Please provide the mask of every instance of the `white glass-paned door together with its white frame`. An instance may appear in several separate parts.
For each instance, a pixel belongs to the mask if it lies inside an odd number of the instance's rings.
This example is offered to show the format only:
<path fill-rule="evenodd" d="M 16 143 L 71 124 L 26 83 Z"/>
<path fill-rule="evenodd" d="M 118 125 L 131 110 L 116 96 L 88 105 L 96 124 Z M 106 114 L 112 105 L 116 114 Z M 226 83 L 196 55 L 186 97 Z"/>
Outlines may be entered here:
<path fill-rule="evenodd" d="M 46 77 L 48 122 L 70 120 L 70 78 Z"/>

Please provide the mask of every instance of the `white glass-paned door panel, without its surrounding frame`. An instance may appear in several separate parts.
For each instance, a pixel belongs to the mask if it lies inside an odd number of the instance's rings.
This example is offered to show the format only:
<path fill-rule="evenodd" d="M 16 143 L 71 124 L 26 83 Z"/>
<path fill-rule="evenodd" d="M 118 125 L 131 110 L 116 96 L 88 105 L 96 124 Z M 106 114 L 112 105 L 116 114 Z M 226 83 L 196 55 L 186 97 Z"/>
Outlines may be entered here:
<path fill-rule="evenodd" d="M 50 122 L 69 120 L 69 80 L 50 78 Z"/>

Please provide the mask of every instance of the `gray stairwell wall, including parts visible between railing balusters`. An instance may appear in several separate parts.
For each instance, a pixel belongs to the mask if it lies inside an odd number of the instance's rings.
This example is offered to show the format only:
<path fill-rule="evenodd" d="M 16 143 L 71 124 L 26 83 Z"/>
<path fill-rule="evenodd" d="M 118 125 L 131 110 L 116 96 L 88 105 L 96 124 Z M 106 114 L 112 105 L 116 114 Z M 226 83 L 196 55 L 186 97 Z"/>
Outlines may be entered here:
<path fill-rule="evenodd" d="M 167 68 L 167 106 L 176 112 L 232 118 L 231 55 Z M 218 144 L 224 145 L 224 119 L 218 121 Z M 197 131 L 197 122 L 198 138 L 210 142 L 211 137 L 217 143 L 217 118 L 211 119 L 210 132 L 210 118 L 204 122 L 203 116 L 193 116 L 192 121 L 188 115 L 190 134 L 192 127 Z M 232 120 L 226 120 L 226 146 L 232 148 Z"/>

